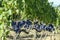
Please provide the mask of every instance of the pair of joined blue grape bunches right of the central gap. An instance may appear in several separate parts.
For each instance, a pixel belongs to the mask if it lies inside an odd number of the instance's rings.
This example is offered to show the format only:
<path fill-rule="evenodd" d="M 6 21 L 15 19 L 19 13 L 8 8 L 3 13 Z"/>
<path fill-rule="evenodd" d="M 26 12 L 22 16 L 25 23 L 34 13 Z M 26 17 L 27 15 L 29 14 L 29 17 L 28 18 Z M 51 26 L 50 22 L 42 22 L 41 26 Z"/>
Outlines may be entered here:
<path fill-rule="evenodd" d="M 46 30 L 49 32 L 52 32 L 55 30 L 52 24 L 49 24 L 48 26 L 46 26 L 43 23 L 38 24 L 38 22 L 34 22 L 34 29 L 36 29 L 37 31 Z"/>

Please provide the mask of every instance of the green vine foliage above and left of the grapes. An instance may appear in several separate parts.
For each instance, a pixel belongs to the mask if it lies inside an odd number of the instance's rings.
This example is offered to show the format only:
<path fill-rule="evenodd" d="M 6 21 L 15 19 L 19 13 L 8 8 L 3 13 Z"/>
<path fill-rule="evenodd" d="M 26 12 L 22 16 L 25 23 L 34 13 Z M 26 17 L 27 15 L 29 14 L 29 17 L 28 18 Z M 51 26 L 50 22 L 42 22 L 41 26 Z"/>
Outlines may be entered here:
<path fill-rule="evenodd" d="M 0 37 L 8 33 L 3 29 L 9 30 L 12 20 L 37 19 L 46 24 L 60 25 L 59 9 L 60 6 L 53 7 L 48 0 L 0 0 Z"/>

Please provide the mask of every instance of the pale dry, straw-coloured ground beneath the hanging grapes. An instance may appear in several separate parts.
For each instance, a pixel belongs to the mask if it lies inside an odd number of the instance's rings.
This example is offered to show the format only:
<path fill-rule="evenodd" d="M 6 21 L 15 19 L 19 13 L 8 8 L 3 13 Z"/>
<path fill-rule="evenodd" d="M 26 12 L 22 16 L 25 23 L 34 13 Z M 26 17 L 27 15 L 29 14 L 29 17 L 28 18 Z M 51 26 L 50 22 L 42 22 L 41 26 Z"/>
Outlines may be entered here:
<path fill-rule="evenodd" d="M 36 34 L 40 36 L 36 37 Z M 13 31 L 11 31 L 9 35 L 15 37 L 15 33 Z M 29 36 L 32 36 L 32 37 L 29 37 Z M 25 38 L 22 38 L 22 37 L 25 37 Z M 7 38 L 7 40 L 12 40 L 12 39 Z M 36 32 L 36 30 L 30 30 L 29 34 L 26 34 L 25 32 L 21 32 L 20 39 L 18 40 L 60 40 L 60 34 L 58 33 L 53 34 L 47 31 Z"/>

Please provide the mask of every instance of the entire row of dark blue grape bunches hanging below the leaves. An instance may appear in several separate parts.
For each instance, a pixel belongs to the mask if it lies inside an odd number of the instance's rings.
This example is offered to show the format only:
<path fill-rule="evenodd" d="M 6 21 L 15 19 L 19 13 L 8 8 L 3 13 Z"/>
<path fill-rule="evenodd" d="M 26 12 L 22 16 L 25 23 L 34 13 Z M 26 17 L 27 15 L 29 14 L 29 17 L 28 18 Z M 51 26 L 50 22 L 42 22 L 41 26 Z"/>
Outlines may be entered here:
<path fill-rule="evenodd" d="M 44 25 L 43 23 L 40 23 L 38 24 L 38 21 L 35 21 L 33 24 L 30 20 L 26 20 L 26 21 L 19 21 L 19 22 L 16 22 L 16 21 L 12 21 L 12 28 L 13 30 L 18 33 L 19 30 L 24 27 L 26 29 L 35 29 L 36 31 L 40 32 L 42 30 L 46 30 L 46 31 L 49 31 L 49 32 L 52 32 L 54 31 L 54 26 L 52 24 L 49 24 L 48 26 L 47 25 Z M 32 26 L 33 25 L 33 26 Z"/>

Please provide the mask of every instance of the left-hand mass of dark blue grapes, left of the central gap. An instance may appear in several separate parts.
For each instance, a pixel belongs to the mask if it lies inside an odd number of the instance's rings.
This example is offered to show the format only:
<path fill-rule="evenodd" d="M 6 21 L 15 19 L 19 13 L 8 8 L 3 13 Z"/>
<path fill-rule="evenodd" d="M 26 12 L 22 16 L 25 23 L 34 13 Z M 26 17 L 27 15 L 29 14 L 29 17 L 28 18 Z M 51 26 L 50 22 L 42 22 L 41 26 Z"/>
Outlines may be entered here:
<path fill-rule="evenodd" d="M 30 25 L 32 25 L 32 22 L 30 22 L 29 20 L 19 21 L 18 23 L 16 23 L 15 21 L 12 21 L 11 24 L 12 24 L 13 30 L 14 30 L 16 33 L 18 33 L 19 31 L 21 31 L 20 28 L 21 28 L 22 26 L 24 26 L 24 28 L 29 28 Z M 22 30 L 22 31 L 23 31 L 23 30 Z"/>

